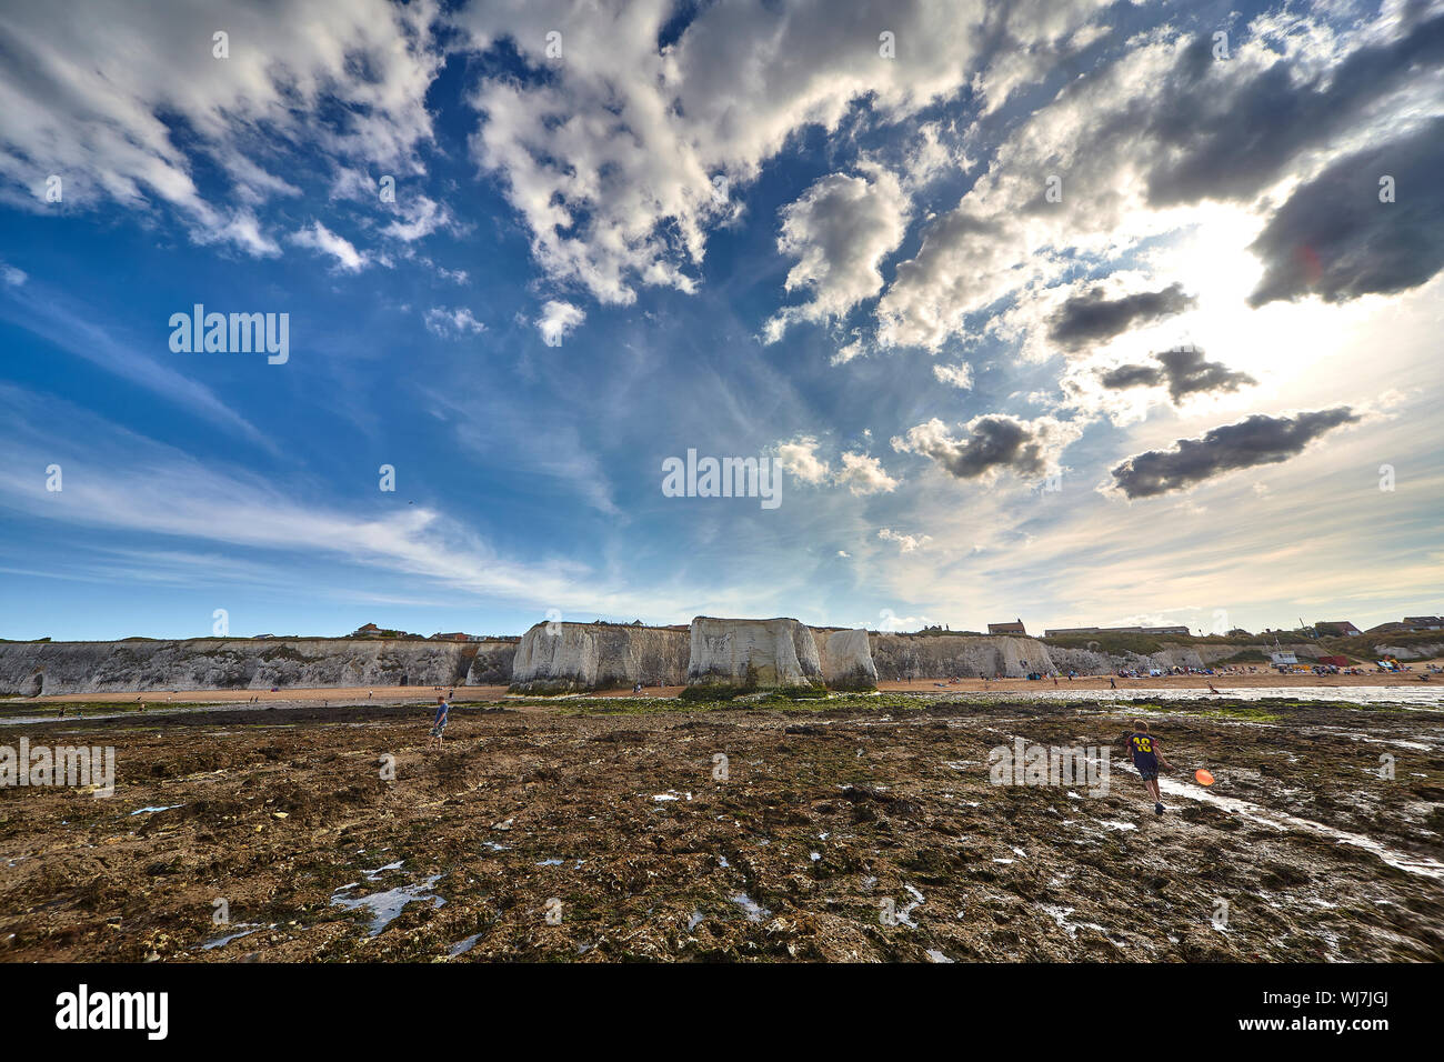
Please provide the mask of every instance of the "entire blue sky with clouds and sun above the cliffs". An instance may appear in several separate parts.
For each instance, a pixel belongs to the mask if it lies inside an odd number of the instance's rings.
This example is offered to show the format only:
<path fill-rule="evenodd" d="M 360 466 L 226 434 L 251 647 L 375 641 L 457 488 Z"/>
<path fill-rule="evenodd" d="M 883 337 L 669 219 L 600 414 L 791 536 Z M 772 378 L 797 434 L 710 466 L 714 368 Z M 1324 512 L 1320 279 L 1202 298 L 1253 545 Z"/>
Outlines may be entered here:
<path fill-rule="evenodd" d="M 30 7 L 0 637 L 1441 611 L 1438 4 Z"/>

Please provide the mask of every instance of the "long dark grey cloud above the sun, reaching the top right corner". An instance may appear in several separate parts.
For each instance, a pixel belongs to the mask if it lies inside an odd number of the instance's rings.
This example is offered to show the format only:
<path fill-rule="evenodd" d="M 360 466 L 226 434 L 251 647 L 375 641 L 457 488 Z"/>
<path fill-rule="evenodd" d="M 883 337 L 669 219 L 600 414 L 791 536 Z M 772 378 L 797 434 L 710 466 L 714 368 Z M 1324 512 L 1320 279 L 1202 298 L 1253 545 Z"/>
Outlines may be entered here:
<path fill-rule="evenodd" d="M 1235 61 L 1213 59 L 1212 48 L 1212 36 L 1200 35 L 1157 91 L 1113 123 L 1112 131 L 1155 146 L 1148 172 L 1155 207 L 1252 198 L 1301 150 L 1327 143 L 1372 104 L 1435 74 L 1444 65 L 1444 16 L 1360 48 L 1302 82 L 1289 62 L 1245 77 Z"/>

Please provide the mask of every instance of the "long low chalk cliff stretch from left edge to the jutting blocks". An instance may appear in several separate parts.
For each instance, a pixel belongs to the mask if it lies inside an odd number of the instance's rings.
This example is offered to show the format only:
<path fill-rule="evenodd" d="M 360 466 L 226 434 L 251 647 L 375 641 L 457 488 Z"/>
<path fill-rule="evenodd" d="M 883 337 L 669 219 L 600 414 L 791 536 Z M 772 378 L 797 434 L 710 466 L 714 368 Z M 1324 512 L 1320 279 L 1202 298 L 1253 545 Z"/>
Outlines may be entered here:
<path fill-rule="evenodd" d="M 0 692 L 459 686 L 485 675 L 508 681 L 514 647 L 412 639 L 12 642 L 0 643 Z"/>

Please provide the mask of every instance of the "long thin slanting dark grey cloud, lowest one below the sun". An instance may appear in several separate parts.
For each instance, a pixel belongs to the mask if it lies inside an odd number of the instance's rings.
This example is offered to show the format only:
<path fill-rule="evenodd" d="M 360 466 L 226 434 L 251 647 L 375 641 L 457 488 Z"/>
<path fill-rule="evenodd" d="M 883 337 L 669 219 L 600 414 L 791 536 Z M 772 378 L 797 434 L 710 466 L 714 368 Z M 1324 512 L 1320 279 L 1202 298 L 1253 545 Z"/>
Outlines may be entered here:
<path fill-rule="evenodd" d="M 1178 439 L 1173 449 L 1135 454 L 1113 468 L 1113 485 L 1129 498 L 1187 490 L 1239 468 L 1271 465 L 1304 452 L 1324 432 L 1360 419 L 1349 406 L 1297 416 L 1253 416 L 1223 425 L 1201 439 Z"/>

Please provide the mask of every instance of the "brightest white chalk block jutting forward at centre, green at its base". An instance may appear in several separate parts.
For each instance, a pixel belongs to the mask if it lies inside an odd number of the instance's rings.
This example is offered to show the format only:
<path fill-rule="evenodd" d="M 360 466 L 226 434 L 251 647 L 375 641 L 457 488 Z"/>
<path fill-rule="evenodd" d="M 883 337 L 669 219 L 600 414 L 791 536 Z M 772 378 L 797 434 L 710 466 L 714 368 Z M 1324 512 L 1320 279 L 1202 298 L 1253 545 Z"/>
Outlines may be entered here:
<path fill-rule="evenodd" d="M 692 621 L 689 683 L 806 686 L 823 681 L 812 630 L 797 620 Z"/>

